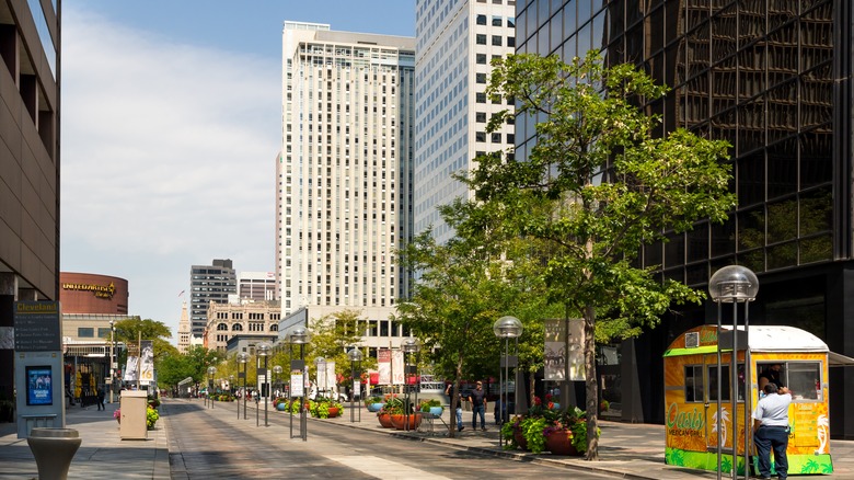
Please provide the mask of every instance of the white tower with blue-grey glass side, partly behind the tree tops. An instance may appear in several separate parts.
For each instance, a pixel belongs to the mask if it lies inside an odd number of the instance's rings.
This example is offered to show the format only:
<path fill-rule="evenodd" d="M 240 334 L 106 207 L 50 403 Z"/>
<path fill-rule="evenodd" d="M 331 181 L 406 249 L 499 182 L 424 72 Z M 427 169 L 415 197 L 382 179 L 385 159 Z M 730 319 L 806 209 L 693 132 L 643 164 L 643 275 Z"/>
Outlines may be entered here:
<path fill-rule="evenodd" d="M 434 227 L 447 241 L 453 232 L 437 207 L 468 197 L 466 186 L 451 178 L 470 170 L 480 153 L 513 146 L 513 125 L 487 136 L 489 116 L 512 105 L 486 99 L 489 61 L 513 53 L 513 0 L 417 0 L 415 32 L 414 226 Z"/>

